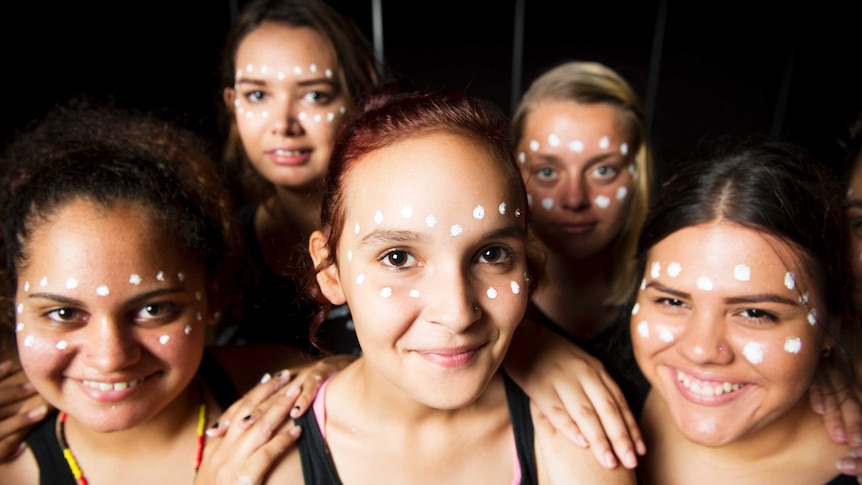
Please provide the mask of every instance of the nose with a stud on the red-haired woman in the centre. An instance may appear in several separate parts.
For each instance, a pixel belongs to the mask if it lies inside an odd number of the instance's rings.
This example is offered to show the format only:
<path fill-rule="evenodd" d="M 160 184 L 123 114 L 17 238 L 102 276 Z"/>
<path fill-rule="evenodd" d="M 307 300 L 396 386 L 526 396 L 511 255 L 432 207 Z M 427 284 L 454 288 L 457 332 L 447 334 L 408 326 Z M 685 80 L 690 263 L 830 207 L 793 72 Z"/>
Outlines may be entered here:
<path fill-rule="evenodd" d="M 475 323 L 482 310 L 473 293 L 473 283 L 466 270 L 457 265 L 436 268 L 427 290 L 425 319 L 461 333 Z"/>

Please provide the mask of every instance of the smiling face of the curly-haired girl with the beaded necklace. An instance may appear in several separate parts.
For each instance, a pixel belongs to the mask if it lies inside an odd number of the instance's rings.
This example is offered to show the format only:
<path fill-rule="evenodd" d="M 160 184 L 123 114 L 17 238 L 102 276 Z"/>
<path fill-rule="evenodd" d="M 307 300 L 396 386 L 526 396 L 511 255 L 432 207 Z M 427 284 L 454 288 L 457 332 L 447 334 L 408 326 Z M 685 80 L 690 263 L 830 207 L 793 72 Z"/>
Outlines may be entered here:
<path fill-rule="evenodd" d="M 175 246 L 134 205 L 72 202 L 33 231 L 18 277 L 18 351 L 36 390 L 71 418 L 128 429 L 194 377 L 203 267 Z"/>

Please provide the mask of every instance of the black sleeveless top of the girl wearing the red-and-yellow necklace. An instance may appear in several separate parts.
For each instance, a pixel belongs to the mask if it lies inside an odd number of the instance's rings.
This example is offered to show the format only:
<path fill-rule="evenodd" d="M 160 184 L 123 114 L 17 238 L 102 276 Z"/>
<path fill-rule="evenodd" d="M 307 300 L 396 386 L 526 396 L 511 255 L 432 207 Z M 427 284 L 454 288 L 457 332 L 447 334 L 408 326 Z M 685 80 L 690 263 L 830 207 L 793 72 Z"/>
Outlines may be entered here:
<path fill-rule="evenodd" d="M 222 409 L 227 409 L 239 398 L 239 393 L 228 377 L 227 371 L 208 351 L 204 351 L 198 375 Z M 57 413 L 55 412 L 42 420 L 27 436 L 27 445 L 39 464 L 39 483 L 40 485 L 78 485 L 66 459 L 63 458 L 60 443 L 57 442 L 56 425 Z"/>

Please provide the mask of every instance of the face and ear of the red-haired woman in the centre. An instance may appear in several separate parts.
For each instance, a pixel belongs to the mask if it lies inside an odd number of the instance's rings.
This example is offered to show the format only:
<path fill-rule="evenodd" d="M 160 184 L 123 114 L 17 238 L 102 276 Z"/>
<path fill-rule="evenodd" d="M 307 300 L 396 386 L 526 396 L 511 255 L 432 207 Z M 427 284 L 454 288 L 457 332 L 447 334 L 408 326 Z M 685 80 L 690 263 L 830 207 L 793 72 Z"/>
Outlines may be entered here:
<path fill-rule="evenodd" d="M 501 172 L 438 133 L 367 155 L 344 188 L 337 266 L 318 281 L 349 304 L 368 366 L 430 407 L 484 391 L 526 310 L 525 207 Z"/>

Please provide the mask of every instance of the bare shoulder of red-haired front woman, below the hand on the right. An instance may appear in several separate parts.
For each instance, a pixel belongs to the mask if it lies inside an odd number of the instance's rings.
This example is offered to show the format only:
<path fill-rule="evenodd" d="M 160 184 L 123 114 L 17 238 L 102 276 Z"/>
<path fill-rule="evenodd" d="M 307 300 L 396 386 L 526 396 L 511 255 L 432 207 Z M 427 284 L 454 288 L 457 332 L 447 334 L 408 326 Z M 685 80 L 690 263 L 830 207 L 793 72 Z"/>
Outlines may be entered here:
<path fill-rule="evenodd" d="M 530 404 L 535 428 L 536 466 L 539 483 L 634 485 L 635 474 L 622 466 L 608 470 L 587 448 L 581 448 L 558 433 L 547 418 Z"/>

